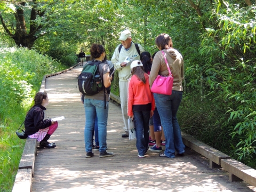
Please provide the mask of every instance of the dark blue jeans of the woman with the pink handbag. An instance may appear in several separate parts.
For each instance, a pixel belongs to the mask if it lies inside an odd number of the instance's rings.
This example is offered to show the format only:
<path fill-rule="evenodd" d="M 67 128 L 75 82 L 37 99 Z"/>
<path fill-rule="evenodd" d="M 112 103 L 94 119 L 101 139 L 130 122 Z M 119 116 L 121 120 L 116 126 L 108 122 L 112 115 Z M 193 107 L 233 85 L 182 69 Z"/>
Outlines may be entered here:
<path fill-rule="evenodd" d="M 165 134 L 165 151 L 167 157 L 174 158 L 175 150 L 178 154 L 185 153 L 177 111 L 182 99 L 182 91 L 172 90 L 171 95 L 154 93 L 156 107 L 161 118 Z"/>

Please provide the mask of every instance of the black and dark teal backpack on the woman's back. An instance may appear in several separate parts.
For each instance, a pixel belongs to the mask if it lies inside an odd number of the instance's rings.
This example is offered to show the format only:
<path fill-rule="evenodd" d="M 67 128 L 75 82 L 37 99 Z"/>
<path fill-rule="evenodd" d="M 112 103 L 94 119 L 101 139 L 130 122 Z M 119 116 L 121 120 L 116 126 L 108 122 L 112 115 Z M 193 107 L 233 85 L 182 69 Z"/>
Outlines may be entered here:
<path fill-rule="evenodd" d="M 87 62 L 78 76 L 78 89 L 84 95 L 94 95 L 104 89 L 103 77 L 99 73 L 100 63 L 102 62 L 95 60 Z"/>

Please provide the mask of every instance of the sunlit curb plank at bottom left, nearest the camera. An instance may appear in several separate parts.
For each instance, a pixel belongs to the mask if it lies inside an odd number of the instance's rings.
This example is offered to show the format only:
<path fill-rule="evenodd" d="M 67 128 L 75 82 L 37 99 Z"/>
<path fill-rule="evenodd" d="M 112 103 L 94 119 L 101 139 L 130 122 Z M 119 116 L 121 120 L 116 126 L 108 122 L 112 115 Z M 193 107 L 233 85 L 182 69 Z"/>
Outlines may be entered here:
<path fill-rule="evenodd" d="M 12 192 L 29 192 L 31 189 L 31 180 L 32 180 L 32 170 L 31 169 L 22 169 L 18 170 L 15 177 L 14 186 Z"/>

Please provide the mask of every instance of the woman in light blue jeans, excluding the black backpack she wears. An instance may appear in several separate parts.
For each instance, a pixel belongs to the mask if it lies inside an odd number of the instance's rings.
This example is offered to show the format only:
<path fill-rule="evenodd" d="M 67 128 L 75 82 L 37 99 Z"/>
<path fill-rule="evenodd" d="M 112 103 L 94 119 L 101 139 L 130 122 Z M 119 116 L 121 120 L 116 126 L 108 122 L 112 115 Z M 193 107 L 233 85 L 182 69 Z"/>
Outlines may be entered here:
<path fill-rule="evenodd" d="M 100 44 L 92 44 L 91 56 L 93 58 L 90 62 L 99 61 L 100 77 L 103 79 L 103 85 L 109 87 L 111 85 L 112 77 L 110 75 L 110 69 L 108 64 L 103 62 L 105 58 L 105 49 Z M 105 97 L 105 96 L 106 97 Z M 106 98 L 106 109 L 105 109 L 105 98 Z M 110 157 L 114 156 L 114 153 L 108 153 L 107 150 L 107 121 L 108 121 L 108 102 L 109 97 L 106 89 L 99 91 L 99 93 L 94 95 L 84 95 L 84 109 L 85 109 L 85 157 L 92 157 L 92 135 L 94 131 L 95 117 L 98 117 L 98 132 L 99 132 L 99 157 Z"/>

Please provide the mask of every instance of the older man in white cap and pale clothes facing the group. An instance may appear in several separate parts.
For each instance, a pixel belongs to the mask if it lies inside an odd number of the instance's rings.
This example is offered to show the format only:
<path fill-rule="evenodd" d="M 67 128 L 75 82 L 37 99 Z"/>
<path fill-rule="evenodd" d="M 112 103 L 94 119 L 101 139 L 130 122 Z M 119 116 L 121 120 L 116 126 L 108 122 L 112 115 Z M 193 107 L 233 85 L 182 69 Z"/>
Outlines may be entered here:
<path fill-rule="evenodd" d="M 125 130 L 125 133 L 122 134 L 122 138 L 126 138 L 129 137 L 129 116 L 127 116 L 127 91 L 128 79 L 131 77 L 131 68 L 130 65 L 127 65 L 127 61 L 125 61 L 125 59 L 126 57 L 129 57 L 131 60 L 138 60 L 140 53 L 143 52 L 144 49 L 140 44 L 132 42 L 132 34 L 131 31 L 128 29 L 122 31 L 119 37 L 119 41 L 121 41 L 121 44 L 116 47 L 111 62 L 114 63 L 115 69 L 118 70 L 121 109 Z"/>

